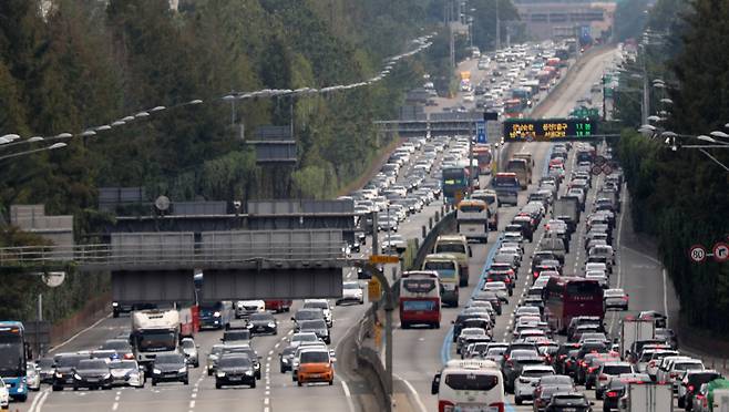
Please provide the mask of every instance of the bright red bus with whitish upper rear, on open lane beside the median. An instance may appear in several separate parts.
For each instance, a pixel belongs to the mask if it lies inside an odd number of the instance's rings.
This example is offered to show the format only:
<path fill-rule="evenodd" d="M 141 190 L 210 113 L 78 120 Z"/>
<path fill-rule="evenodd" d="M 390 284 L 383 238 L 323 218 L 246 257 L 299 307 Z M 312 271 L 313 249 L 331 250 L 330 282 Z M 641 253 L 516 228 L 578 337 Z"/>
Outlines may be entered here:
<path fill-rule="evenodd" d="M 400 325 L 441 327 L 441 285 L 437 271 L 405 271 L 400 278 Z"/>

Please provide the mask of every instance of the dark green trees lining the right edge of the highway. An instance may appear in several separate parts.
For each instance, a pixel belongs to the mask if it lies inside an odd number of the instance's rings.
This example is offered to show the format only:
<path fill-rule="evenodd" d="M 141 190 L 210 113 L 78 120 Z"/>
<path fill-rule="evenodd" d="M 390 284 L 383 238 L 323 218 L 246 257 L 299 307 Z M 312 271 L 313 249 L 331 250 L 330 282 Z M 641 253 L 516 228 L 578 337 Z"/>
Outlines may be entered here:
<path fill-rule="evenodd" d="M 670 9 L 670 6 L 675 7 Z M 667 127 L 682 135 L 708 134 L 721 130 L 729 120 L 729 56 L 716 50 L 729 48 L 729 4 L 697 0 L 692 11 L 682 14 L 684 4 L 659 1 L 654 11 L 684 16 L 674 20 L 660 40 L 678 44 L 667 60 L 648 49 L 649 79 L 663 76 L 674 101 Z M 653 14 L 650 21 L 660 21 Z M 670 58 L 670 55 L 669 55 Z M 653 100 L 660 97 L 653 96 Z M 620 106 L 618 104 L 618 106 Z M 654 107 L 655 109 L 655 107 Z M 622 105 L 619 116 L 635 115 L 638 107 Z M 684 144 L 700 143 L 697 140 Z M 727 151 L 709 150 L 729 164 Z M 729 266 L 708 259 L 692 264 L 688 249 L 694 244 L 711 247 L 727 239 L 729 224 L 729 174 L 705 154 L 690 148 L 674 152 L 661 138 L 649 141 L 635 133 L 623 134 L 617 146 L 630 188 L 636 228 L 658 240 L 660 257 L 681 301 L 681 313 L 692 326 L 727 336 L 729 319 Z"/>

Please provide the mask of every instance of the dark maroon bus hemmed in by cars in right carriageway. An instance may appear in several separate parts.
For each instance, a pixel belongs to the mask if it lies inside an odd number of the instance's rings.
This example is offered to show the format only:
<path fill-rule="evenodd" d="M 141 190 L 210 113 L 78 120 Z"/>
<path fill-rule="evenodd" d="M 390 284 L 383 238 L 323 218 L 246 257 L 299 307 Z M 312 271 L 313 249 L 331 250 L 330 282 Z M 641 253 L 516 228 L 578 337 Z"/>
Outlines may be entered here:
<path fill-rule="evenodd" d="M 544 313 L 552 330 L 566 332 L 572 318 L 597 316 L 605 318 L 603 288 L 596 280 L 552 276 L 545 288 Z"/>

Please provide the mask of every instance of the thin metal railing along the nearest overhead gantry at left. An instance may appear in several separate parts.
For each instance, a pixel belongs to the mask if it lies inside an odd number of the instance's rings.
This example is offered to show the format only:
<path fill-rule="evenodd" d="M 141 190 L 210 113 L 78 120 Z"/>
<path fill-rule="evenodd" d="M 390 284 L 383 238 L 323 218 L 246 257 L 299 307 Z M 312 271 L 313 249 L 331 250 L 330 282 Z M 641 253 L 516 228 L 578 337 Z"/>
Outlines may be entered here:
<path fill-rule="evenodd" d="M 93 266 L 236 264 L 259 259 L 283 261 L 345 260 L 345 241 L 251 244 L 191 243 L 168 244 L 21 246 L 0 248 L 0 267 L 51 266 L 65 262 Z"/>

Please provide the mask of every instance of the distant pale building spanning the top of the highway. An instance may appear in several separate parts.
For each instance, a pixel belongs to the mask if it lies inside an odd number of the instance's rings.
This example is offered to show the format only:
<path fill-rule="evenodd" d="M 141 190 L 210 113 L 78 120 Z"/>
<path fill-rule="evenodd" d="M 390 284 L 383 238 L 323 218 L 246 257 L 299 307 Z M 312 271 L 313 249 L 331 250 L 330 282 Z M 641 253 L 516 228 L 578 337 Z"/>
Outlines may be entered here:
<path fill-rule="evenodd" d="M 616 3 L 585 0 L 516 0 L 527 34 L 537 40 L 579 38 L 608 41 Z"/>

